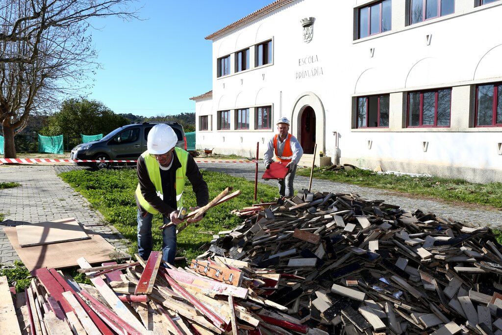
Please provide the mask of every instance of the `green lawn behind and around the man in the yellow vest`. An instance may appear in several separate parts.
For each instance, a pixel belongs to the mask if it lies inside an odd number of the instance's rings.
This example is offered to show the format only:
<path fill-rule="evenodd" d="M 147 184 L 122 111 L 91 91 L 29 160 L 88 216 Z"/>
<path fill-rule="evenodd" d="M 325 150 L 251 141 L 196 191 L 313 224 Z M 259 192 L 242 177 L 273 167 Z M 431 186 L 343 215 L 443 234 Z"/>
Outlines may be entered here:
<path fill-rule="evenodd" d="M 253 182 L 217 172 L 202 170 L 202 174 L 209 187 L 209 199 L 214 198 L 228 186 L 232 186 L 234 191 L 240 190 L 241 194 L 211 208 L 201 221 L 191 224 L 178 235 L 178 249 L 184 250 L 181 256 L 186 256 L 189 260 L 200 255 L 202 251 L 199 248 L 212 240 L 211 235 L 198 232 L 210 231 L 218 234 L 220 231 L 233 228 L 240 224 L 242 219 L 231 214 L 232 209 L 240 209 L 257 202 L 271 201 L 275 196 L 278 196 L 277 188 L 260 184 L 258 200 L 255 201 L 255 184 Z M 137 206 L 134 197 L 134 191 L 138 184 L 136 169 L 78 170 L 61 173 L 60 177 L 86 197 L 111 225 L 132 242 L 128 251 L 131 255 L 137 252 Z M 185 207 L 196 205 L 195 194 L 188 180 L 186 180 L 183 197 Z M 162 226 L 162 216 L 155 215 L 152 222 L 154 250 L 162 248 L 160 226 Z"/>

